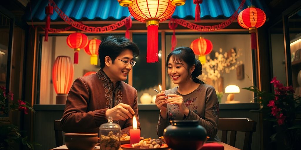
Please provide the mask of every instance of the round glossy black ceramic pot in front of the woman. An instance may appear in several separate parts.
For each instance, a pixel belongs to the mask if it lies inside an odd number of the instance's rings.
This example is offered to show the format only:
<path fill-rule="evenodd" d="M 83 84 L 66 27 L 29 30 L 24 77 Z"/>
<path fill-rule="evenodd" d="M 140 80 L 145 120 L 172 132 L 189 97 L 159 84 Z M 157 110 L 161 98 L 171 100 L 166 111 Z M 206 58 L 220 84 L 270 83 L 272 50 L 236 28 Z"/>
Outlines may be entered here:
<path fill-rule="evenodd" d="M 206 129 L 199 125 L 198 120 L 173 120 L 164 129 L 166 144 L 173 150 L 199 150 L 206 140 Z"/>

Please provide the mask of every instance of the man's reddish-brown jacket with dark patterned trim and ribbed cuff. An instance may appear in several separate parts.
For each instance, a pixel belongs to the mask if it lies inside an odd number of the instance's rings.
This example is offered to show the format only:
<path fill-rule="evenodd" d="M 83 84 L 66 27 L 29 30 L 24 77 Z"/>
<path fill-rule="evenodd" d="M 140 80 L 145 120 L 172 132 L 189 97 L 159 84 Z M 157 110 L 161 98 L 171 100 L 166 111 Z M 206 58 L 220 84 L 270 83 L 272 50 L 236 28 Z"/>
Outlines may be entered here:
<path fill-rule="evenodd" d="M 107 109 L 119 103 L 133 108 L 140 128 L 137 90 L 123 81 L 116 84 L 114 89 L 113 82 L 102 69 L 96 74 L 77 78 L 68 93 L 61 122 L 63 131 L 99 134 L 99 126 L 107 122 Z M 131 118 L 114 122 L 120 125 L 122 134 L 129 134 L 129 129 L 133 128 Z"/>

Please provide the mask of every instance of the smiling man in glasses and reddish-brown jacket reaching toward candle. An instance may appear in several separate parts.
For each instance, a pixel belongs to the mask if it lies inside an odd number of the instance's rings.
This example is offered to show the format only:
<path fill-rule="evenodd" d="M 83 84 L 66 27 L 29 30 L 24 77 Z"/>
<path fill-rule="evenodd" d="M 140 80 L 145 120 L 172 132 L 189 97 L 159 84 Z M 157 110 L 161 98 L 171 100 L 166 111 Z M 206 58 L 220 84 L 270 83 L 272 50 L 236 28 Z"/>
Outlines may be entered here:
<path fill-rule="evenodd" d="M 132 129 L 132 117 L 138 117 L 137 90 L 122 80 L 139 55 L 136 44 L 126 38 L 109 36 L 98 49 L 101 69 L 98 73 L 77 78 L 67 97 L 62 118 L 64 132 L 99 133 L 99 126 L 112 116 L 122 134 Z"/>

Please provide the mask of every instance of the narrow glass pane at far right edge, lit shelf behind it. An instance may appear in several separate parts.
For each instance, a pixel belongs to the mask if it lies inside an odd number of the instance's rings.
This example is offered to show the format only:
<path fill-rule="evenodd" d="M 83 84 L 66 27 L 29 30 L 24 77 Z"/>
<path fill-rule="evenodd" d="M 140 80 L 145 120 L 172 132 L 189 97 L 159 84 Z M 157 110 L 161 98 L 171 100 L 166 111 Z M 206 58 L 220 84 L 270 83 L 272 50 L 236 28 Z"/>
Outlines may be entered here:
<path fill-rule="evenodd" d="M 292 63 L 293 88 L 301 95 L 301 10 L 288 19 L 290 34 L 290 58 Z"/>

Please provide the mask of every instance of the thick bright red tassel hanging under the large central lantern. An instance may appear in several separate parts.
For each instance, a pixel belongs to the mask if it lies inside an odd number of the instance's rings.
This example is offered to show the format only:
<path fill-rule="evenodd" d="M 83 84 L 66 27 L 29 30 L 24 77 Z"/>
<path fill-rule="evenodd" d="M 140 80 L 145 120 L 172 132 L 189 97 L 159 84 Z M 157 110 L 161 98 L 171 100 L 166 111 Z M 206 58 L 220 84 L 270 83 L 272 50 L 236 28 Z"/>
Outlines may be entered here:
<path fill-rule="evenodd" d="M 158 62 L 158 26 L 147 26 L 147 55 L 146 62 Z"/>

